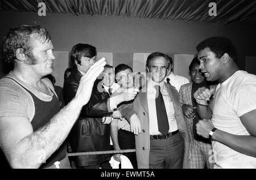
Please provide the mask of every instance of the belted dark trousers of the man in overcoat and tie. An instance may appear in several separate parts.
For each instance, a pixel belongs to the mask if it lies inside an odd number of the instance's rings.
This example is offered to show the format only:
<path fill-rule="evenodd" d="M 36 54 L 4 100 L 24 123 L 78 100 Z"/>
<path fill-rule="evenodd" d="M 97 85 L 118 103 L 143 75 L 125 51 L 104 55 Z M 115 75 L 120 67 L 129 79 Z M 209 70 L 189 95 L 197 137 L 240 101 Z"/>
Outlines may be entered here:
<path fill-rule="evenodd" d="M 184 140 L 178 132 L 167 139 L 150 140 L 150 169 L 181 169 L 184 157 Z"/>

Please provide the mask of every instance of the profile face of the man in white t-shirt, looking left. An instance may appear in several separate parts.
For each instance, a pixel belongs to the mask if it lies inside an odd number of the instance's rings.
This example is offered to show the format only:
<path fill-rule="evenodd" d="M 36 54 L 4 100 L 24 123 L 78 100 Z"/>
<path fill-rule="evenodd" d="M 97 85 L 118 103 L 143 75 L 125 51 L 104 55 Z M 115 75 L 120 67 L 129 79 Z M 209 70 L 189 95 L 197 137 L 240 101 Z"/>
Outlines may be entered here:
<path fill-rule="evenodd" d="M 206 80 L 215 81 L 221 78 L 221 59 L 217 58 L 209 48 L 200 50 L 197 57 L 200 61 L 199 68 L 204 73 Z"/>

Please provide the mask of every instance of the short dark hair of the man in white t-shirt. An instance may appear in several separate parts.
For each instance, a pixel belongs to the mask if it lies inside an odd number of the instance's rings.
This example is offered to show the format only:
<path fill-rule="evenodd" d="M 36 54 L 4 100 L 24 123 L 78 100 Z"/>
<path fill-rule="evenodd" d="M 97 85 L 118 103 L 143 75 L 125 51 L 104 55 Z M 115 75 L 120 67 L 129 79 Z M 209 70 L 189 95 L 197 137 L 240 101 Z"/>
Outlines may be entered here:
<path fill-rule="evenodd" d="M 228 53 L 234 61 L 237 60 L 236 48 L 226 37 L 210 37 L 196 46 L 197 52 L 200 52 L 200 50 L 205 48 L 210 48 L 210 50 L 216 54 L 217 58 L 221 58 L 223 54 Z"/>

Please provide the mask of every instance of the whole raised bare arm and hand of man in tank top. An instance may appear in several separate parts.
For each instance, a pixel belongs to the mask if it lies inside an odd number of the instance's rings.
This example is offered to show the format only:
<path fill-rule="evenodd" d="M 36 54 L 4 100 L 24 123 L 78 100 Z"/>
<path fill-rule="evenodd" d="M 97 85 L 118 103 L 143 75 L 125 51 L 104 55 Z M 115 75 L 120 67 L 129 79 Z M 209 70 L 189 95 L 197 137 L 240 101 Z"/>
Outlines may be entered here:
<path fill-rule="evenodd" d="M 13 168 L 39 168 L 59 148 L 79 117 L 82 106 L 89 101 L 94 80 L 105 64 L 105 58 L 96 62 L 81 78 L 75 98 L 35 132 L 27 118 L 0 119 L 0 145 Z"/>

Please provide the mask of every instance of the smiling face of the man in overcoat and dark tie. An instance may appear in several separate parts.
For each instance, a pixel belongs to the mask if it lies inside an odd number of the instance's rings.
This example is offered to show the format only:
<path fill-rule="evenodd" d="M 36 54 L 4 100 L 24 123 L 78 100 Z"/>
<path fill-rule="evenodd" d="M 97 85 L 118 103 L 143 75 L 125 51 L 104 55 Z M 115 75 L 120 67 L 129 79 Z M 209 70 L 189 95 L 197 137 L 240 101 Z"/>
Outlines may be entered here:
<path fill-rule="evenodd" d="M 150 68 L 147 68 L 148 72 L 152 72 L 152 80 L 156 83 L 160 83 L 166 77 L 168 68 L 167 59 L 164 57 L 155 57 L 150 62 Z"/>

